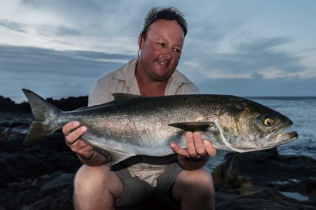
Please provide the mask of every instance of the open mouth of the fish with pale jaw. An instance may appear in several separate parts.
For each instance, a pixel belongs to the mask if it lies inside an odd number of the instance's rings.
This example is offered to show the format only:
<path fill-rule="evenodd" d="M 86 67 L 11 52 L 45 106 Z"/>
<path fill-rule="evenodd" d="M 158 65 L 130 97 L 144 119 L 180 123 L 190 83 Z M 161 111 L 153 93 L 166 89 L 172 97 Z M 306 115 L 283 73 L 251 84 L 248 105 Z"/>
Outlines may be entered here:
<path fill-rule="evenodd" d="M 282 145 L 294 141 L 298 138 L 296 131 L 284 132 L 287 128 L 293 125 L 292 120 L 289 120 L 286 124 L 279 128 L 275 128 L 273 131 L 269 132 L 267 136 L 268 142 L 273 143 L 275 146 Z"/>

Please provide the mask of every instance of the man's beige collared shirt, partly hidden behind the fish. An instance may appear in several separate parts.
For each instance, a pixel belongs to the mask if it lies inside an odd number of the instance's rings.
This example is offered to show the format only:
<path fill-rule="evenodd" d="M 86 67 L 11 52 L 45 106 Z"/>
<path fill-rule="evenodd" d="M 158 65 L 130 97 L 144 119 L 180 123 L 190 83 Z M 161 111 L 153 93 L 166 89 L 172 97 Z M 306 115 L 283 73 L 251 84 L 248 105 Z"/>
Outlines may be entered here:
<path fill-rule="evenodd" d="M 112 93 L 140 95 L 135 77 L 137 62 L 138 58 L 134 58 L 117 70 L 100 76 L 90 92 L 88 106 L 99 105 L 114 100 L 114 97 L 111 95 Z M 164 95 L 197 93 L 199 93 L 197 87 L 176 69 L 168 80 Z M 138 155 L 124 160 L 123 163 L 127 165 L 127 169 L 132 177 L 138 177 L 155 187 L 157 186 L 158 176 L 174 161 L 176 161 L 175 154 L 164 157 Z"/>

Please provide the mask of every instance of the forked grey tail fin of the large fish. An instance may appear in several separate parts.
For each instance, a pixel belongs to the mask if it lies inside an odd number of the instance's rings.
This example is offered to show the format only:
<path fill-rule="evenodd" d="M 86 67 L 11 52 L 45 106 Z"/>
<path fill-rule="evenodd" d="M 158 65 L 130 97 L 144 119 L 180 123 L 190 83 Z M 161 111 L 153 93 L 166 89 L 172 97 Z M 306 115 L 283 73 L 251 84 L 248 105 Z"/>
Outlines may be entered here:
<path fill-rule="evenodd" d="M 40 138 L 47 136 L 59 129 L 56 127 L 54 120 L 62 111 L 40 97 L 35 92 L 27 89 L 22 90 L 29 100 L 32 113 L 35 118 L 30 126 L 30 131 L 23 141 L 24 145 L 30 145 L 36 140 L 39 140 Z"/>

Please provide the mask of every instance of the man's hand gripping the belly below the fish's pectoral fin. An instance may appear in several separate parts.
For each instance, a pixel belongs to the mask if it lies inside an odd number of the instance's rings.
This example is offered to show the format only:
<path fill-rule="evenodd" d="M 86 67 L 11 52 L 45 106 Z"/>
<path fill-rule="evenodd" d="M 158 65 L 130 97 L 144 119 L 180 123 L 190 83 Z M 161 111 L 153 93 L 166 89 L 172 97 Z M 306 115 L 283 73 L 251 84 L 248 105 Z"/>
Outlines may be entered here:
<path fill-rule="evenodd" d="M 208 140 L 201 139 L 201 134 L 199 132 L 187 132 L 187 149 L 179 148 L 177 144 L 171 144 L 170 147 L 177 154 L 187 157 L 187 158 L 200 158 L 201 156 L 209 155 L 211 157 L 216 155 L 216 149 L 213 147 L 212 143 Z"/>

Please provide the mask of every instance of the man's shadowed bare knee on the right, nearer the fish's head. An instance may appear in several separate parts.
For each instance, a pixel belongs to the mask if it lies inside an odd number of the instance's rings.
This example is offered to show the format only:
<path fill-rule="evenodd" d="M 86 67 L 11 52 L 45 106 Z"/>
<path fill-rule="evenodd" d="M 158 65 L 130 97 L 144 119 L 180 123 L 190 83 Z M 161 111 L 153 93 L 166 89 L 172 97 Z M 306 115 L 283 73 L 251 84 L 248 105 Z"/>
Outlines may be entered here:
<path fill-rule="evenodd" d="M 181 203 L 181 210 L 213 210 L 214 186 L 210 173 L 204 169 L 182 171 L 172 187 L 172 197 Z"/>

